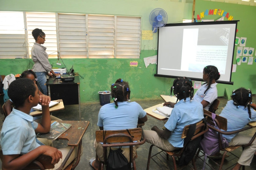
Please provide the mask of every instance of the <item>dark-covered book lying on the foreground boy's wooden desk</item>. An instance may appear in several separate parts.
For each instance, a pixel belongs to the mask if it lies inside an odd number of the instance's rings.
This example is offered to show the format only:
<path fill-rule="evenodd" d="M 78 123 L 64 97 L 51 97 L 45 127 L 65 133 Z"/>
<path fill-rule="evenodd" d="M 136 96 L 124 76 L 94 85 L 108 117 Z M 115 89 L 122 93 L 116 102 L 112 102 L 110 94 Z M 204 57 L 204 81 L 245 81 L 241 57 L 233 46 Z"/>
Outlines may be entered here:
<path fill-rule="evenodd" d="M 50 139 L 50 140 L 56 140 L 61 134 L 66 132 L 70 127 L 71 127 L 71 124 L 60 123 L 55 121 L 51 124 L 51 129 L 49 133 L 46 133 L 46 134 L 38 133 L 36 136 Z"/>

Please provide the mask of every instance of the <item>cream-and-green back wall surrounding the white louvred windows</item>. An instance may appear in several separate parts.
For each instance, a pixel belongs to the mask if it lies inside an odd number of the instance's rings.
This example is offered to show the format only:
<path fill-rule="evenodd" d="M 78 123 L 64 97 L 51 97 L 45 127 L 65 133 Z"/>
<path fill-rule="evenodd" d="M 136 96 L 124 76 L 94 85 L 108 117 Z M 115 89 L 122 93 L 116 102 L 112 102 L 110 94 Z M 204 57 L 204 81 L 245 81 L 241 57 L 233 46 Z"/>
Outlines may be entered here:
<path fill-rule="evenodd" d="M 155 8 L 163 8 L 168 14 L 168 23 L 190 19 L 192 4 L 171 2 L 169 0 L 8 0 L 1 1 L 1 11 L 39 11 L 88 14 L 111 14 L 142 17 L 142 30 L 152 30 L 149 14 Z M 67 68 L 74 65 L 84 79 L 80 78 L 81 103 L 99 102 L 98 91 L 110 90 L 118 78 L 130 83 L 131 99 L 156 98 L 160 94 L 170 94 L 173 79 L 154 77 L 156 64 L 146 68 L 143 58 L 157 54 L 157 34 L 153 40 L 141 41 L 139 59 L 63 59 Z M 49 59 L 54 67 L 57 59 Z M 130 61 L 138 61 L 138 67 L 130 67 Z M 22 73 L 31 69 L 29 59 L 1 59 L 0 74 Z M 62 65 L 63 66 L 63 65 Z"/>

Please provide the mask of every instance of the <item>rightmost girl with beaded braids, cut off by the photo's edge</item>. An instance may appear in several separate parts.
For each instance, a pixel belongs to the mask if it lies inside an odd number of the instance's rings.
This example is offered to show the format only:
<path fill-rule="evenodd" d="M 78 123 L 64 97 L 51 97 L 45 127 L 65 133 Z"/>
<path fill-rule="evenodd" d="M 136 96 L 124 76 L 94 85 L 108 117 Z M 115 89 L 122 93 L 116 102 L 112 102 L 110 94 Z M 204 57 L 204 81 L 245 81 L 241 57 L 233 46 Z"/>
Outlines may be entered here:
<path fill-rule="evenodd" d="M 252 91 L 250 89 L 239 88 L 233 91 L 232 99 L 229 100 L 220 113 L 220 116 L 228 120 L 228 128 L 226 132 L 239 130 L 244 128 L 249 122 L 256 121 L 256 111 L 251 108 Z M 248 134 L 222 135 L 229 142 L 229 146 L 244 145 L 249 143 L 252 136 Z M 256 151 L 256 140 L 250 146 L 244 147 L 241 157 L 237 161 L 236 166 L 232 170 L 238 170 L 242 165 L 250 166 L 252 158 Z"/>

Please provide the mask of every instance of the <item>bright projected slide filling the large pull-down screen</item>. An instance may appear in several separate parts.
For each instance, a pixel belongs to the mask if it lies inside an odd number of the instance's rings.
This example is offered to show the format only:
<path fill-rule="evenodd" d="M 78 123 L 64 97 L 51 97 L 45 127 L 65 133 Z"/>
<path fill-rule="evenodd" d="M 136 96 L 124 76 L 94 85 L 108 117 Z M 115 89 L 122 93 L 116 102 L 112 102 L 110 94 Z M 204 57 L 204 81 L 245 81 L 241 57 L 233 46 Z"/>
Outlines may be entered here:
<path fill-rule="evenodd" d="M 229 82 L 236 23 L 167 24 L 159 30 L 157 74 L 196 80 L 202 79 L 205 66 L 213 65 L 221 74 L 219 80 Z"/>

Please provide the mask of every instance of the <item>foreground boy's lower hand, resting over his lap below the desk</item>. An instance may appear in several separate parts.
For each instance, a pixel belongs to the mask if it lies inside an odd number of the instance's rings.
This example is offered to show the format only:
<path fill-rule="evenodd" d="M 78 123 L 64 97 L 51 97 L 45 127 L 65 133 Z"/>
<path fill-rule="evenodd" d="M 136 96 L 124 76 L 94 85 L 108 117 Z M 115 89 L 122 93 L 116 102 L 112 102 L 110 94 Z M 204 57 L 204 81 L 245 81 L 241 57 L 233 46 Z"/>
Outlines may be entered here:
<path fill-rule="evenodd" d="M 57 148 L 51 147 L 51 146 L 46 146 L 46 145 L 41 145 L 40 149 L 43 150 L 43 155 L 48 155 L 52 157 L 52 164 L 55 165 L 60 161 L 60 158 L 62 158 L 62 153 L 59 151 Z"/>

